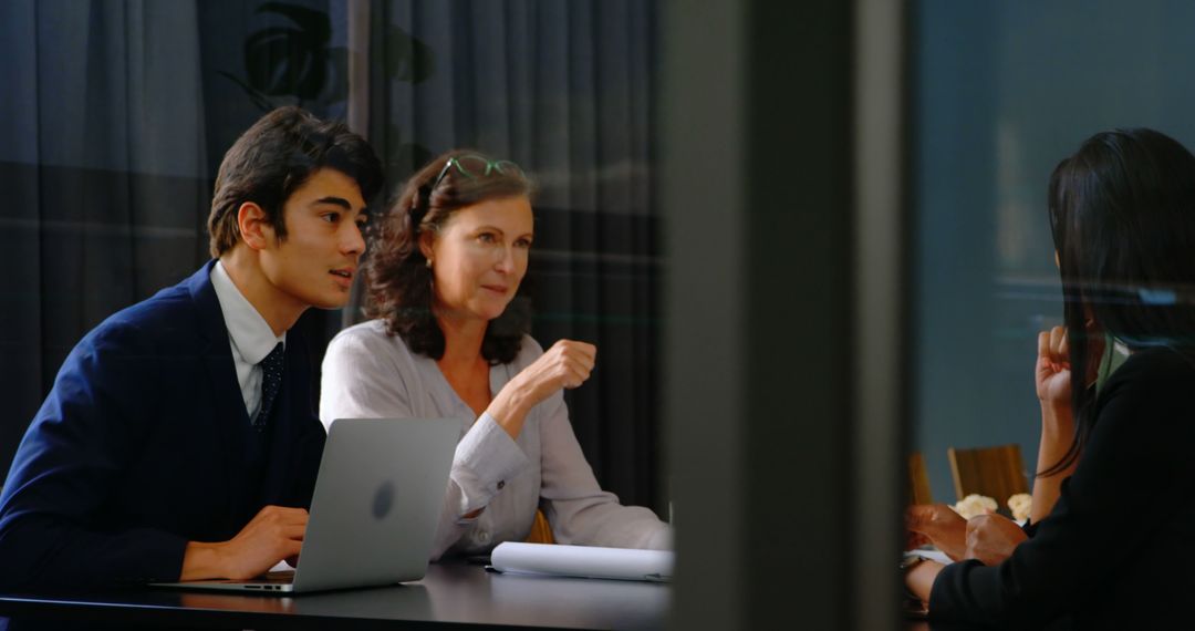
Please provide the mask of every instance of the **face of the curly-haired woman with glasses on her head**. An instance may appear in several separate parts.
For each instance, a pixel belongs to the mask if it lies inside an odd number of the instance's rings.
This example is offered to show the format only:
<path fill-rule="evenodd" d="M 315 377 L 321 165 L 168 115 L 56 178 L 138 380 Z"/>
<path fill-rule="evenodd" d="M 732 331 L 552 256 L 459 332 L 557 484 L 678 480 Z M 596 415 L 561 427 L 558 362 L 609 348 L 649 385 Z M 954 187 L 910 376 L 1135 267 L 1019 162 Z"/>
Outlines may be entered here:
<path fill-rule="evenodd" d="M 532 238 L 531 202 L 522 196 L 460 208 L 437 234 L 423 233 L 436 314 L 486 321 L 501 316 L 527 274 Z"/>

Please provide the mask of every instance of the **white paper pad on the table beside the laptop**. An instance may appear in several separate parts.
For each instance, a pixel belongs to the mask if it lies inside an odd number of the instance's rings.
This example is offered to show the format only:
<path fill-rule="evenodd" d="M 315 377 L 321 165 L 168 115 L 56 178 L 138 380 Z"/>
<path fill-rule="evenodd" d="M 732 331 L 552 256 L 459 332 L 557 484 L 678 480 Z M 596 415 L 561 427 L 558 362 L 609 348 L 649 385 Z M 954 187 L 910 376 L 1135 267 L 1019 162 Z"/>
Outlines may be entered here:
<path fill-rule="evenodd" d="M 673 552 L 504 541 L 490 553 L 501 572 L 621 581 L 670 581 Z"/>

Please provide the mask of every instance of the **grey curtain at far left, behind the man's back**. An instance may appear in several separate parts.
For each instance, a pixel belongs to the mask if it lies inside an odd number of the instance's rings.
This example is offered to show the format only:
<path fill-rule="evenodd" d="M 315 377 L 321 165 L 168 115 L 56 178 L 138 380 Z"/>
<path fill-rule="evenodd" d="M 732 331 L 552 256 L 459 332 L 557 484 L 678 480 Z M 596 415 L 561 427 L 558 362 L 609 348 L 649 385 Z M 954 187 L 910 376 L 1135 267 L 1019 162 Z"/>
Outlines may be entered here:
<path fill-rule="evenodd" d="M 0 4 L 0 466 L 66 354 L 206 249 L 192 1 Z"/>

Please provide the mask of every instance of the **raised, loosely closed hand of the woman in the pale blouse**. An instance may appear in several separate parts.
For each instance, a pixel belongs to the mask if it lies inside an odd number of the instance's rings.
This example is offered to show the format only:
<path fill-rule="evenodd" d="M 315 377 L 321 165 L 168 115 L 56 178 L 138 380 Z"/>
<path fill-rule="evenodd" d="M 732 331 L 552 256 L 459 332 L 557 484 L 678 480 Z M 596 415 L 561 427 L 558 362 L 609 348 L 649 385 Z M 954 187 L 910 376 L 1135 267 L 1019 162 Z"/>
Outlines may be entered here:
<path fill-rule="evenodd" d="M 527 412 L 557 391 L 584 384 L 596 356 L 598 347 L 593 344 L 562 339 L 516 374 L 486 411 L 511 439 L 517 439 Z"/>

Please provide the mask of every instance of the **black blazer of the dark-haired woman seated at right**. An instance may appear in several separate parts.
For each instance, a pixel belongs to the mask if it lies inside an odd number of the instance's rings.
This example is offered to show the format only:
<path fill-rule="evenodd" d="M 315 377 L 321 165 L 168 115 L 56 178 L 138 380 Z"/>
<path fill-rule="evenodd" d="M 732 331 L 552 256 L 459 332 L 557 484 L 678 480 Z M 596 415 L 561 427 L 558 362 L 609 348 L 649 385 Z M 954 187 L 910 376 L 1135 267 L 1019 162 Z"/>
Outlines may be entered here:
<path fill-rule="evenodd" d="M 1005 629 L 1190 626 L 1195 599 L 1195 367 L 1134 353 L 1096 402 L 1074 474 L 998 566 L 948 565 L 930 617 Z"/>

